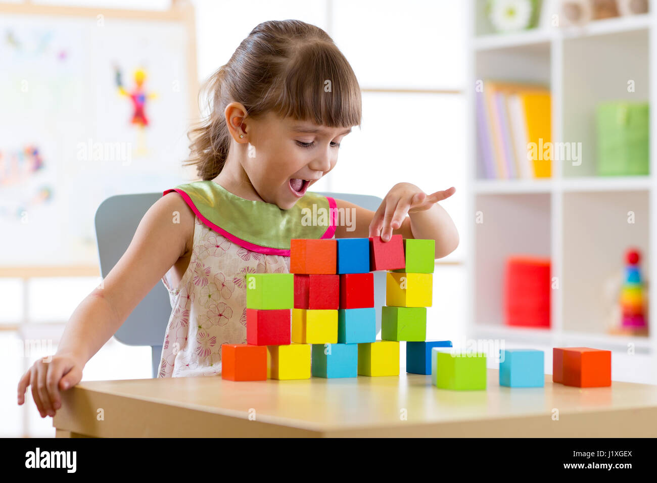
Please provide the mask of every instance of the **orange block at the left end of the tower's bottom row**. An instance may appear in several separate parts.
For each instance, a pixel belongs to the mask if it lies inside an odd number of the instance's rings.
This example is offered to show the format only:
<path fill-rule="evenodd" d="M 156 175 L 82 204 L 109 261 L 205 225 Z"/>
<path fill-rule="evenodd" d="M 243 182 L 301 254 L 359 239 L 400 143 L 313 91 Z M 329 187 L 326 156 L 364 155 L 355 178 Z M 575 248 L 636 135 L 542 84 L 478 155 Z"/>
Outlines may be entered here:
<path fill-rule="evenodd" d="M 221 378 L 266 380 L 267 348 L 252 344 L 221 344 Z"/>

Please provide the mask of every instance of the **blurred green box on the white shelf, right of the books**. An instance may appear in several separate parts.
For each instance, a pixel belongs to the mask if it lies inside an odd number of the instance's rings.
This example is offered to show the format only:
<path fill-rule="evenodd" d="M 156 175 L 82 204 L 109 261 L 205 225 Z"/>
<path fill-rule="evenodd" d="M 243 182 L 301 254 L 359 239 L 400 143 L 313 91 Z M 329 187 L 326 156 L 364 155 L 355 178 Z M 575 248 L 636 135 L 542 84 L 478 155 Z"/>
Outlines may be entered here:
<path fill-rule="evenodd" d="M 598 175 L 649 174 L 649 116 L 648 103 L 613 101 L 598 104 Z"/>

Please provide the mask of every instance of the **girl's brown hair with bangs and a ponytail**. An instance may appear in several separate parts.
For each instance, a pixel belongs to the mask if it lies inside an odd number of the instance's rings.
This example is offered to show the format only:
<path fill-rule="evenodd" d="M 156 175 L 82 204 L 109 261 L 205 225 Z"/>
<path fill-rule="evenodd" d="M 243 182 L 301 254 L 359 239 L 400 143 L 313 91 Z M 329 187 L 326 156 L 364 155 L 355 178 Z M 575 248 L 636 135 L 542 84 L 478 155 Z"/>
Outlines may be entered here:
<path fill-rule="evenodd" d="M 233 138 L 224 110 L 231 102 L 244 104 L 252 118 L 273 111 L 328 127 L 361 124 L 361 90 L 349 62 L 324 30 L 300 20 L 256 26 L 199 95 L 206 91 L 210 114 L 189 131 L 184 163 L 204 180 L 214 179 L 228 156 Z"/>

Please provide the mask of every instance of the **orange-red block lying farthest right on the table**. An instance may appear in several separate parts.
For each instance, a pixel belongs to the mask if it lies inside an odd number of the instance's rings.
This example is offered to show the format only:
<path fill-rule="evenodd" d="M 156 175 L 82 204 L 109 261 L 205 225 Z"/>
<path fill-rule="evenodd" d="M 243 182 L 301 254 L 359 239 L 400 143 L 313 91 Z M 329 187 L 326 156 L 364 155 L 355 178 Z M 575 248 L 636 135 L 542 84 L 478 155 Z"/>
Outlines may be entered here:
<path fill-rule="evenodd" d="M 612 352 L 588 347 L 566 348 L 562 384 L 580 388 L 612 385 Z"/>

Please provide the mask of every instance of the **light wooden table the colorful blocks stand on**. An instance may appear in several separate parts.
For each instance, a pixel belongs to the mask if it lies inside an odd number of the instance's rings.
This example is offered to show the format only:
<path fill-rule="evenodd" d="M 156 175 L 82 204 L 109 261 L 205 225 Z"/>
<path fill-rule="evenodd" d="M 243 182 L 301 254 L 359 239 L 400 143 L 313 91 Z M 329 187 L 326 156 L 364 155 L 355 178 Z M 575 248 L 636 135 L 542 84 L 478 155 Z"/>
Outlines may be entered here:
<path fill-rule="evenodd" d="M 657 386 L 440 390 L 431 377 L 266 380 L 215 377 L 81 382 L 62 393 L 58 437 L 656 437 Z M 98 420 L 102 408 L 102 421 Z M 556 418 L 558 411 L 558 420 Z"/>

